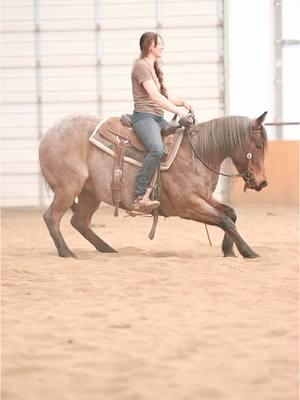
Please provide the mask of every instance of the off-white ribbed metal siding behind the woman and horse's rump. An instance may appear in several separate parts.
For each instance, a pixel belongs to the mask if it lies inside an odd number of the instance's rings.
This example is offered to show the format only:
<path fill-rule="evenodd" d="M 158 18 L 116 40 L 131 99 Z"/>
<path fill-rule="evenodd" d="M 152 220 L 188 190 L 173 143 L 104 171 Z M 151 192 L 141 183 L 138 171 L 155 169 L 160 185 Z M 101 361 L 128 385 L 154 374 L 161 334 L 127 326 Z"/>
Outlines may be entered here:
<path fill-rule="evenodd" d="M 4 0 L 2 205 L 42 205 L 42 132 L 69 112 L 132 111 L 138 39 L 157 30 L 170 94 L 199 120 L 224 113 L 222 0 Z"/>

